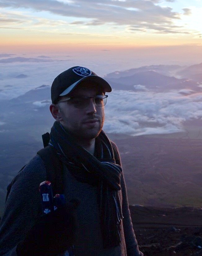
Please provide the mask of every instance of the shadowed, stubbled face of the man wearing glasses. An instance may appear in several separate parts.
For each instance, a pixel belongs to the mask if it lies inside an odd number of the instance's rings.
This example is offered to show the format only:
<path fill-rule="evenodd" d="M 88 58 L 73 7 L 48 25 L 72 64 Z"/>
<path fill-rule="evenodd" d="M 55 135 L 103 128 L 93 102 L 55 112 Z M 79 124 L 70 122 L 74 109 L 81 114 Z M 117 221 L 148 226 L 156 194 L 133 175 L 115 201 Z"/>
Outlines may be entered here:
<path fill-rule="evenodd" d="M 94 97 L 100 94 L 103 93 L 100 93 L 96 87 L 82 86 L 82 88 L 76 88 L 71 96 Z M 65 98 L 68 96 L 61 100 L 65 100 Z M 92 98 L 85 108 L 76 108 L 71 100 L 59 102 L 58 106 L 62 117 L 60 123 L 78 140 L 91 140 L 101 132 L 104 123 L 104 107 L 96 106 Z"/>

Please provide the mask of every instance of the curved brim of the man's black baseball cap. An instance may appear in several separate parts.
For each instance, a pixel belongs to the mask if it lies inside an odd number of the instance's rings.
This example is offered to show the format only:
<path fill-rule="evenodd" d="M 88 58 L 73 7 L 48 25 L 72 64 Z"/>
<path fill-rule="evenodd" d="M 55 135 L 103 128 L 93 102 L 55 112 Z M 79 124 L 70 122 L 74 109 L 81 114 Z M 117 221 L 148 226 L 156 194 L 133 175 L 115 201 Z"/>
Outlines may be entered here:
<path fill-rule="evenodd" d="M 76 81 L 75 83 L 73 83 L 72 85 L 70 85 L 67 89 L 65 89 L 59 96 L 65 96 L 67 94 L 69 94 L 73 89 L 75 89 L 75 87 L 77 85 L 79 85 L 82 81 L 93 81 L 93 82 L 97 82 L 98 85 L 100 85 L 100 87 L 103 88 L 104 92 L 111 92 L 112 88 L 111 86 L 108 84 L 107 81 L 105 81 L 102 77 L 98 77 L 95 75 L 90 75 L 87 77 L 82 77 L 80 80 Z"/>

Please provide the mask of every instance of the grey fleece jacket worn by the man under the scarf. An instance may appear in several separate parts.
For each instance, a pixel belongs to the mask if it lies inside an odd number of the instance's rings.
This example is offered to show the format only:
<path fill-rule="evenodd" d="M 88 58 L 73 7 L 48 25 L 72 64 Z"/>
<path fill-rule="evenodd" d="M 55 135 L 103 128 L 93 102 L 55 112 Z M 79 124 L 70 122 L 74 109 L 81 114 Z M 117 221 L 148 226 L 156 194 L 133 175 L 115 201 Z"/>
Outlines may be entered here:
<path fill-rule="evenodd" d="M 8 196 L 5 212 L 0 223 L 0 255 L 16 256 L 16 246 L 37 220 L 41 211 L 39 184 L 46 180 L 46 169 L 40 156 L 35 156 L 16 175 Z M 67 202 L 80 201 L 76 210 L 75 256 L 142 256 L 135 239 L 130 218 L 126 187 L 121 174 L 119 196 L 124 219 L 121 224 L 119 246 L 103 249 L 97 203 L 97 189 L 89 184 L 78 182 L 64 167 L 64 194 Z"/>

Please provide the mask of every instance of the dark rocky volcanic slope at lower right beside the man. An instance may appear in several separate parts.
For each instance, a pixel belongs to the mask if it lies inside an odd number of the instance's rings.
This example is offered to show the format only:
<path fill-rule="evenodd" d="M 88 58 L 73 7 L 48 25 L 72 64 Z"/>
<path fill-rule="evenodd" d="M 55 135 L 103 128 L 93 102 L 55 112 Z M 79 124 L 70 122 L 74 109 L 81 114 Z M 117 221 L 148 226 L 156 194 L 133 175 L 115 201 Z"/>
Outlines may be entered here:
<path fill-rule="evenodd" d="M 131 218 L 144 256 L 202 255 L 202 210 L 130 207 Z"/>

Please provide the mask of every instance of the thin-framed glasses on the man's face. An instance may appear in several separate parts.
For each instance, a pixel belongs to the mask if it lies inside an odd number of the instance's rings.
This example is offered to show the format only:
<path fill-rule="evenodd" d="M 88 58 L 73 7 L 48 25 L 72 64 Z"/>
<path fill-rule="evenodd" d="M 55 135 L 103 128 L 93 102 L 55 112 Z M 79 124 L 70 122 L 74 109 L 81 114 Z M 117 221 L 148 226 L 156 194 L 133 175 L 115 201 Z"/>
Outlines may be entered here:
<path fill-rule="evenodd" d="M 87 97 L 87 96 L 69 97 L 59 102 L 69 101 L 74 105 L 75 108 L 84 109 L 90 104 L 90 99 L 93 99 L 94 104 L 98 107 L 105 106 L 107 103 L 107 97 L 108 95 L 96 95 L 95 97 Z"/>

